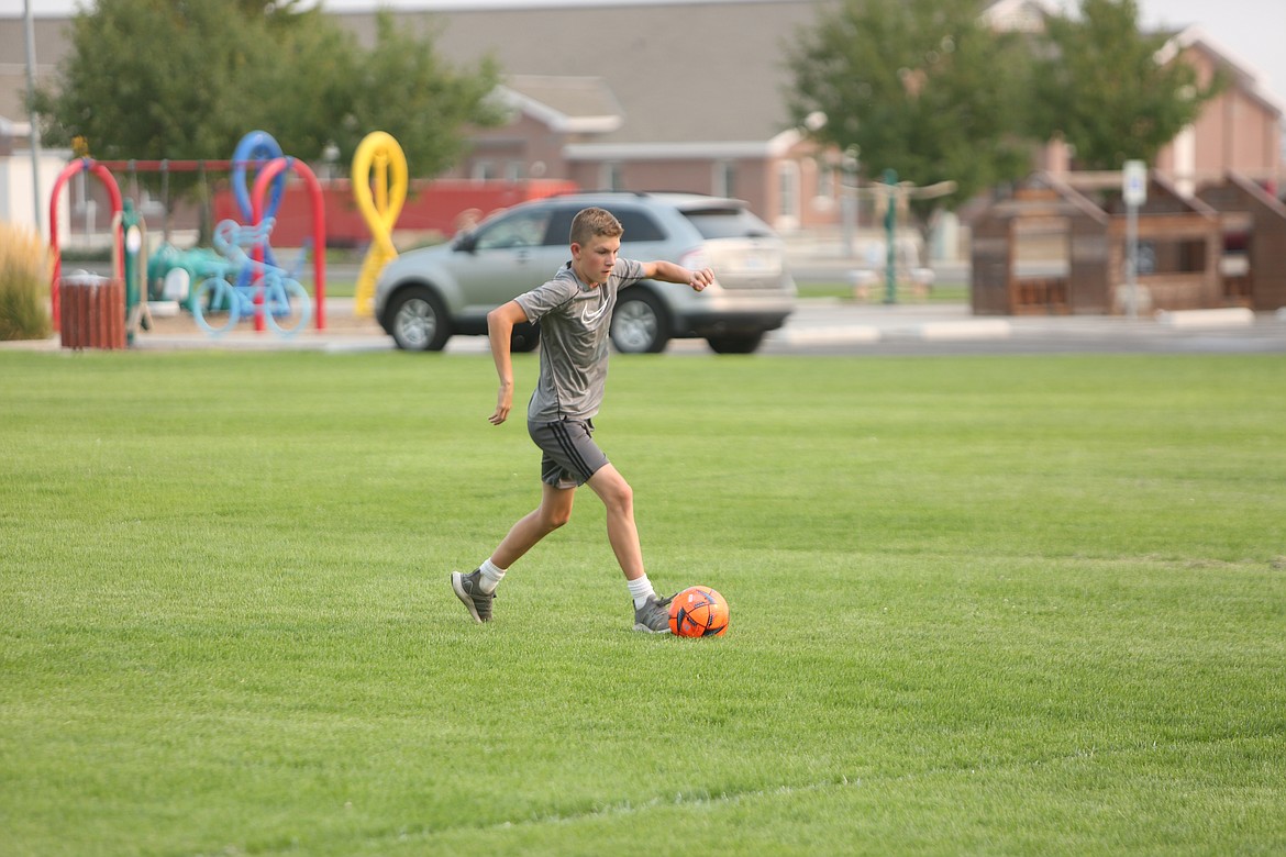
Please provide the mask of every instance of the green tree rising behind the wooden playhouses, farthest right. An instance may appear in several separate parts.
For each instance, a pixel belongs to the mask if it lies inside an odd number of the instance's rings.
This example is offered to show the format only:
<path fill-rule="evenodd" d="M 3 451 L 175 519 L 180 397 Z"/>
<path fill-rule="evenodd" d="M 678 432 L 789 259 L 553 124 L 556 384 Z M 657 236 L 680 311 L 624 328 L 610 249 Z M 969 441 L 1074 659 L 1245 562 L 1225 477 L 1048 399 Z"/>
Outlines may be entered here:
<path fill-rule="evenodd" d="M 1079 19 L 1048 21 L 1047 39 L 1033 128 L 1046 139 L 1061 134 L 1082 168 L 1152 163 L 1224 85 L 1217 75 L 1197 86 L 1196 69 L 1178 57 L 1159 62 L 1169 36 L 1139 32 L 1134 0 L 1082 0 Z"/>

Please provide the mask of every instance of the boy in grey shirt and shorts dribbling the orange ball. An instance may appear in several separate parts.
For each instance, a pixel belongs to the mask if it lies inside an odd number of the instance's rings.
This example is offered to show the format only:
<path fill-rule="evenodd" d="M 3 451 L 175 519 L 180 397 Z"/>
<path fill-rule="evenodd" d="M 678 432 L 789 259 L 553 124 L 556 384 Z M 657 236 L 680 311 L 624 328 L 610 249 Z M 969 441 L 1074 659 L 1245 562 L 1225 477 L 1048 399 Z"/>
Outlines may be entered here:
<path fill-rule="evenodd" d="M 622 231 L 611 212 L 585 208 L 571 224 L 571 261 L 544 285 L 487 314 L 500 376 L 495 412 L 489 418 L 493 425 L 504 423 L 513 406 L 513 325 L 540 322 L 540 379 L 527 406 L 527 433 L 543 454 L 543 484 L 540 505 L 513 524 L 491 556 L 468 574 L 451 574 L 451 588 L 476 622 L 491 619 L 495 588 L 507 569 L 571 519 L 576 488 L 589 484 L 607 509 L 607 540 L 634 600 L 634 630 L 669 631 L 670 599 L 657 597 L 643 569 L 634 492 L 594 443 L 592 420 L 603 401 L 617 292 L 644 279 L 687 283 L 701 292 L 715 275 L 710 269 L 689 271 L 673 262 L 620 258 Z"/>

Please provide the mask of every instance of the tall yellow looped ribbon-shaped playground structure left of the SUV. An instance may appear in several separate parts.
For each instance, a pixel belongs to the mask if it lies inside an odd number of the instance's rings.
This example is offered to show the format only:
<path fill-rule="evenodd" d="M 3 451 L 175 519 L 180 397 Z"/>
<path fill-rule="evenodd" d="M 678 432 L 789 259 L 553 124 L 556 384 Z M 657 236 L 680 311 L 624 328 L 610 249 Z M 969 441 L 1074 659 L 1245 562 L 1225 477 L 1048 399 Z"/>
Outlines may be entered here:
<path fill-rule="evenodd" d="M 406 202 L 406 155 L 397 140 L 383 131 L 368 134 L 352 155 L 352 195 L 372 238 L 354 298 L 354 312 L 359 316 L 372 314 L 376 280 L 397 258 L 394 226 Z"/>

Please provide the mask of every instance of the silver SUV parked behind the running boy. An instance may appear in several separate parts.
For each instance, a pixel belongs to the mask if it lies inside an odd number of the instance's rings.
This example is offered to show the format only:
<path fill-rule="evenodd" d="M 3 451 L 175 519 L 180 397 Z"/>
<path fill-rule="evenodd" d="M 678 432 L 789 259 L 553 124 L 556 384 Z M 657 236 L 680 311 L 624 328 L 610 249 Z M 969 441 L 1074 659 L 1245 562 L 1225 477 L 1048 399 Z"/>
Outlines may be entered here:
<path fill-rule="evenodd" d="M 453 334 L 486 334 L 486 314 L 567 262 L 572 217 L 599 206 L 625 227 L 621 256 L 709 266 L 697 293 L 644 280 L 620 293 L 611 338 L 617 351 L 662 351 L 673 338 L 703 337 L 719 353 L 750 353 L 795 308 L 782 240 L 737 199 L 696 194 L 593 193 L 507 208 L 450 244 L 394 260 L 376 285 L 376 317 L 399 348 L 440 351 Z M 514 329 L 516 351 L 539 330 Z"/>

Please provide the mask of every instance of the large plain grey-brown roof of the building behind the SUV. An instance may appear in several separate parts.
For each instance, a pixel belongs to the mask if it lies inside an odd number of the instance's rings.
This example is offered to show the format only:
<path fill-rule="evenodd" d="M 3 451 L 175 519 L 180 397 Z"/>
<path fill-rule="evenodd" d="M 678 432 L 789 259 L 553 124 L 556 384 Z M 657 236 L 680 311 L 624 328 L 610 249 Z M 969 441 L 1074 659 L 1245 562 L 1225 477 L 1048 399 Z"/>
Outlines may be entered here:
<path fill-rule="evenodd" d="M 406 27 L 439 33 L 436 49 L 453 63 L 473 64 L 491 54 L 512 76 L 511 89 L 534 100 L 540 78 L 585 81 L 595 75 L 626 119 L 595 136 L 595 144 L 736 148 L 764 146 L 790 128 L 784 45 L 829 3 L 707 0 L 392 14 Z M 336 14 L 370 42 L 374 15 Z M 518 81 L 527 84 L 520 87 Z M 556 112 L 575 114 L 563 100 L 571 90 L 543 91 L 558 99 L 547 102 Z"/>

